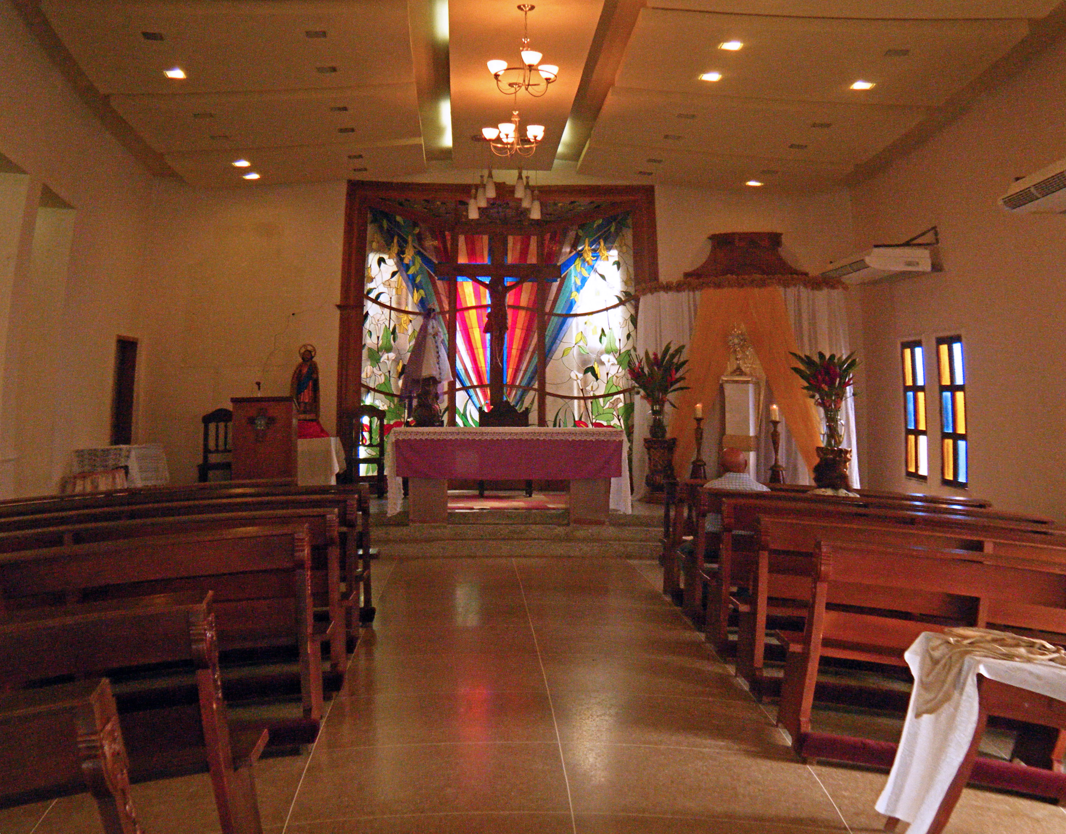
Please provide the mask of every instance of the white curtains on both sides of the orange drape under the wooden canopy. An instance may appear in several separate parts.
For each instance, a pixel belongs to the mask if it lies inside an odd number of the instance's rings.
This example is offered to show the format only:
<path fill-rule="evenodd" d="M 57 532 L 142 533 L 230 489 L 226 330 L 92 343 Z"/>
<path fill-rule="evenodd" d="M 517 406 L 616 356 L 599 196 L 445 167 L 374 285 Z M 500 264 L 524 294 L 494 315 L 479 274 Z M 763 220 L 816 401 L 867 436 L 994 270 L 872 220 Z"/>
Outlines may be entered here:
<path fill-rule="evenodd" d="M 803 353 L 849 353 L 847 317 L 844 312 L 844 290 L 808 290 L 803 287 L 782 290 L 785 304 L 792 319 L 796 344 Z M 657 292 L 645 295 L 641 300 L 641 311 L 636 323 L 636 349 L 640 355 L 645 350 L 662 350 L 666 342 L 688 344 L 692 338 L 692 327 L 699 307 L 698 292 Z M 770 477 L 770 466 L 774 462 L 773 446 L 770 438 L 770 403 L 774 402 L 774 392 L 765 385 L 760 398 L 763 407 L 759 408 L 759 439 L 757 444 L 756 471 L 752 475 L 759 481 Z M 718 411 L 721 412 L 721 398 Z M 633 410 L 633 494 L 644 494 L 644 477 L 647 475 L 647 454 L 644 450 L 644 438 L 648 436 L 650 410 L 644 400 L 636 398 Z M 855 442 L 855 405 L 852 398 L 844 401 L 841 410 L 844 420 L 844 445 L 852 450 L 850 476 L 852 486 L 858 487 L 859 466 L 856 456 Z M 721 440 L 721 429 L 708 414 L 704 432 L 704 460 L 707 461 L 707 474 L 717 476 L 717 447 Z M 721 418 L 718 418 L 720 420 Z M 667 421 L 669 410 L 667 410 Z M 785 467 L 787 483 L 810 483 L 810 474 L 804 464 L 788 426 L 780 424 L 779 460 Z M 688 471 L 679 471 L 680 478 L 688 477 Z"/>

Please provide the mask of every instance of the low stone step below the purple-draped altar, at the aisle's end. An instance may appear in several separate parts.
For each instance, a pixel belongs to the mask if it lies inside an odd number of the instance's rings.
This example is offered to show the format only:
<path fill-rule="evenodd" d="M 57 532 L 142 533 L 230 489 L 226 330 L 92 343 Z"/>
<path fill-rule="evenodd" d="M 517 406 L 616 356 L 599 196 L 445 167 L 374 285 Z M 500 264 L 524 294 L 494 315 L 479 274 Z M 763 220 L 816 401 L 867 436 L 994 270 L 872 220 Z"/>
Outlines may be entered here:
<path fill-rule="evenodd" d="M 406 513 L 374 515 L 373 543 L 382 556 L 591 557 L 657 556 L 662 528 L 652 515 L 612 515 L 605 525 L 576 525 L 566 511 L 449 512 L 447 525 L 408 525 Z"/>

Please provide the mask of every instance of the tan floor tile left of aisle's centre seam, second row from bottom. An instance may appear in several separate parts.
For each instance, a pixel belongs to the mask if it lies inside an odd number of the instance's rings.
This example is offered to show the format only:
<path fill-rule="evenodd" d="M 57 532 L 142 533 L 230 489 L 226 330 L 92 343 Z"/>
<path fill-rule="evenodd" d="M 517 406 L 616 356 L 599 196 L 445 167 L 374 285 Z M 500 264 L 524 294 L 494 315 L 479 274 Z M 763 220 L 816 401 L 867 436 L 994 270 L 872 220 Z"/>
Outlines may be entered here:
<path fill-rule="evenodd" d="M 554 743 L 316 750 L 292 821 L 569 808 Z"/>

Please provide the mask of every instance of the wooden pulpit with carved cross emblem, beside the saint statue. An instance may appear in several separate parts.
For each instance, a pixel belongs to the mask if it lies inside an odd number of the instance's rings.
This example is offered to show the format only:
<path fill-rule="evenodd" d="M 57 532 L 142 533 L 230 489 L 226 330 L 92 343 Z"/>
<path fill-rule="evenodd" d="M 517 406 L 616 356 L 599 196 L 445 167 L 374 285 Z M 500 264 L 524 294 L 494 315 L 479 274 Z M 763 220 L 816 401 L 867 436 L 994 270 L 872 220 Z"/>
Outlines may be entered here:
<path fill-rule="evenodd" d="M 291 397 L 235 397 L 232 478 L 296 479 L 296 407 Z"/>

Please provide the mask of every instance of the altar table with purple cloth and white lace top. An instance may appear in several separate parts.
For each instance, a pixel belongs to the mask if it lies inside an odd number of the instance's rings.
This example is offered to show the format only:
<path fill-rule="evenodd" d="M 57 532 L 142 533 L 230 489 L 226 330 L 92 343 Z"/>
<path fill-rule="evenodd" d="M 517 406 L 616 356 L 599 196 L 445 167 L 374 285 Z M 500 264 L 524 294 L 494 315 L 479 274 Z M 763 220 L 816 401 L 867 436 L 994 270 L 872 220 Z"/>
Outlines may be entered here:
<path fill-rule="evenodd" d="M 609 509 L 631 512 L 626 433 L 621 429 L 418 428 L 388 437 L 389 515 L 408 479 L 414 524 L 448 520 L 448 479 L 570 482 L 570 524 L 602 524 Z"/>

